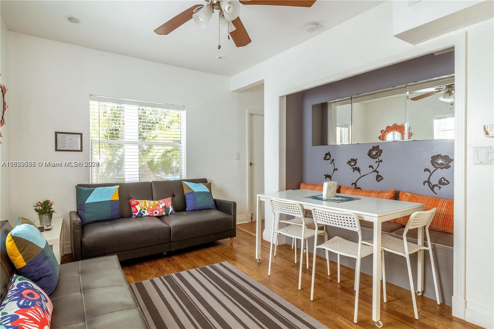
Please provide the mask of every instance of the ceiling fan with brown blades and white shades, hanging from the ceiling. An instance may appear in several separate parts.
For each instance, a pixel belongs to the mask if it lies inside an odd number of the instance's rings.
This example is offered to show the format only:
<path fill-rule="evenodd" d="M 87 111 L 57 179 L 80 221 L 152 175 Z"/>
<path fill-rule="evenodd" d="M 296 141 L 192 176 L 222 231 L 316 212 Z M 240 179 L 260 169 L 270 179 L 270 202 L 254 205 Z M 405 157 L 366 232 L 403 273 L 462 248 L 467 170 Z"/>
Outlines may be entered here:
<path fill-rule="evenodd" d="M 237 47 L 243 47 L 249 44 L 251 40 L 239 17 L 240 4 L 310 7 L 316 0 L 206 0 L 206 2 L 204 5 L 196 4 L 182 11 L 154 32 L 160 35 L 167 35 L 190 19 L 194 19 L 199 27 L 206 29 L 214 10 L 218 10 L 220 33 L 228 34 L 228 38 L 231 36 Z M 220 47 L 218 45 L 218 49 Z"/>

